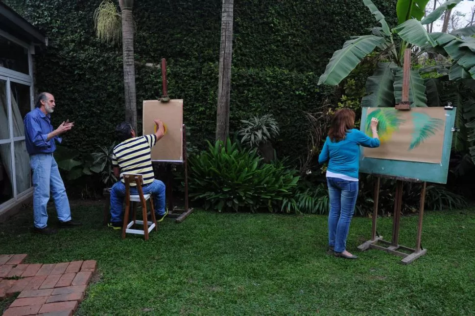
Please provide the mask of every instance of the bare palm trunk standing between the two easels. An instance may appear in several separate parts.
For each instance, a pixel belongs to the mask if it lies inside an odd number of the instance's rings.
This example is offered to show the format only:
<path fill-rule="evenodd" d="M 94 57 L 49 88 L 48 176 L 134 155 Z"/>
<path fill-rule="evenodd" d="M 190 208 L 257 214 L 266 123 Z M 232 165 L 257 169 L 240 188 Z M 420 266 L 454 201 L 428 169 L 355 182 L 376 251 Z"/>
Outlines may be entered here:
<path fill-rule="evenodd" d="M 216 113 L 216 140 L 222 141 L 225 141 L 229 134 L 229 99 L 231 90 L 231 60 L 233 56 L 233 7 L 234 0 L 223 0 Z"/>

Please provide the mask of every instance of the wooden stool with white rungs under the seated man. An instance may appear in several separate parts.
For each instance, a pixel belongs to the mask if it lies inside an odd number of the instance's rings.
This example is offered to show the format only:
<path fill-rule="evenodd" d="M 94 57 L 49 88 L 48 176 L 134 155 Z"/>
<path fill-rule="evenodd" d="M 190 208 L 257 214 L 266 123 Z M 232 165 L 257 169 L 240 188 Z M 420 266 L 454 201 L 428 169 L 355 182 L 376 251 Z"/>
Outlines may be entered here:
<path fill-rule="evenodd" d="M 155 228 L 155 231 L 158 230 L 157 228 L 157 220 L 155 218 L 155 210 L 153 209 L 153 198 L 151 194 L 143 194 L 142 191 L 142 184 L 143 178 L 142 175 L 138 174 L 124 174 L 124 181 L 125 181 L 125 213 L 124 213 L 124 221 L 122 226 L 122 239 L 125 238 L 126 233 L 130 234 L 138 234 L 143 235 L 145 240 L 148 240 L 148 233 Z M 130 195 L 130 183 L 135 183 L 137 185 L 138 195 Z M 150 201 L 150 215 L 152 216 L 152 222 L 148 222 L 147 220 L 147 201 Z M 133 207 L 133 221 L 129 221 L 129 213 L 130 213 L 130 202 L 140 202 L 142 203 L 142 221 L 137 221 L 137 210 L 136 207 Z M 135 224 L 139 224 L 143 226 L 142 229 L 131 229 Z"/>

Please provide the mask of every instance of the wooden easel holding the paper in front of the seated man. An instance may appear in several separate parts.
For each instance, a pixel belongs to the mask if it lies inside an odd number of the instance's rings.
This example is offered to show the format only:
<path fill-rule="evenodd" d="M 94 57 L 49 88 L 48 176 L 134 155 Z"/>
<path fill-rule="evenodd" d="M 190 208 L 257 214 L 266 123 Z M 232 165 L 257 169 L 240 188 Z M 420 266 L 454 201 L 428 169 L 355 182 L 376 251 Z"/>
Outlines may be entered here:
<path fill-rule="evenodd" d="M 162 89 L 163 97 L 159 99 L 160 102 L 169 102 L 168 90 L 166 86 L 166 60 L 162 58 Z M 193 208 L 188 204 L 188 159 L 187 159 L 187 139 L 186 139 L 186 126 L 182 125 L 183 133 L 183 160 L 182 161 L 157 161 L 152 160 L 154 172 L 158 172 L 160 167 L 164 165 L 166 167 L 166 200 L 168 200 L 168 217 L 176 218 L 175 223 L 183 222 L 188 215 L 193 212 Z M 173 205 L 173 165 L 183 165 L 185 173 L 185 207 L 178 208 Z"/>

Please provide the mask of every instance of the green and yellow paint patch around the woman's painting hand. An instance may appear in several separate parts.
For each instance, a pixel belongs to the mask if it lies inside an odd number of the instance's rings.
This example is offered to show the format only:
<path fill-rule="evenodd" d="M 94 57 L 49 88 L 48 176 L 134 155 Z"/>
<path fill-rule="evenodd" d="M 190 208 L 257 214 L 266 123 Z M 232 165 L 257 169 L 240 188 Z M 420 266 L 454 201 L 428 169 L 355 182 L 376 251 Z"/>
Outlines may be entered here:
<path fill-rule="evenodd" d="M 380 142 L 385 142 L 391 138 L 391 135 L 399 130 L 399 126 L 404 123 L 404 118 L 401 118 L 401 113 L 395 108 L 383 108 L 375 110 L 368 114 L 365 122 L 365 133 L 372 136 L 371 119 L 376 117 L 379 120 L 378 134 Z"/>

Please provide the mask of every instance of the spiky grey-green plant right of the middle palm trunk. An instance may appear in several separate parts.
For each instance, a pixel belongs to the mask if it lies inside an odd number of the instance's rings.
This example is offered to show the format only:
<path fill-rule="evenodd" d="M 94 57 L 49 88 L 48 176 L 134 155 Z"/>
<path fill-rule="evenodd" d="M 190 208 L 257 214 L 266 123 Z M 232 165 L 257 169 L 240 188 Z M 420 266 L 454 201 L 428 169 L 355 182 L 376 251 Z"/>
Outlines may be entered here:
<path fill-rule="evenodd" d="M 248 144 L 251 148 L 259 148 L 279 135 L 279 124 L 272 114 L 254 116 L 250 120 L 241 120 L 241 123 L 244 124 L 238 132 L 242 136 L 241 143 Z"/>

